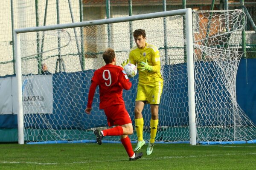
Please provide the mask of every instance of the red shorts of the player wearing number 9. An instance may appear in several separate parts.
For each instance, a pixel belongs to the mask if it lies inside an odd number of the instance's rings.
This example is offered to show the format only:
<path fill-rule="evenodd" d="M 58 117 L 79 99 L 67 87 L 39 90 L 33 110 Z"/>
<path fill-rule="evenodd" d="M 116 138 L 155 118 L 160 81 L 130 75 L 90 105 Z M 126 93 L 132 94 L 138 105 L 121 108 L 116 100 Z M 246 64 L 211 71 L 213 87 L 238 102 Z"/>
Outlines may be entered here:
<path fill-rule="evenodd" d="M 113 105 L 104 109 L 107 116 L 108 126 L 125 125 L 131 123 L 131 117 L 125 109 L 125 105 Z"/>

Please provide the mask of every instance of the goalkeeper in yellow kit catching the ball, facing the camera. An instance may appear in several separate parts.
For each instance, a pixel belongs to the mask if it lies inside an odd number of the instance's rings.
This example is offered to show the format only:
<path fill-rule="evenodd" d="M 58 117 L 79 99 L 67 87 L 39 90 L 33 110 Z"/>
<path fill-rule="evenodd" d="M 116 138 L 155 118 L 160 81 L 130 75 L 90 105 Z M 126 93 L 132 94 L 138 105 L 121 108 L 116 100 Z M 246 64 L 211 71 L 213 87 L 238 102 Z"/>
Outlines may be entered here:
<path fill-rule="evenodd" d="M 135 128 L 138 136 L 137 152 L 145 145 L 143 140 L 143 116 L 142 111 L 146 103 L 150 104 L 150 140 L 147 147 L 147 155 L 153 151 L 154 141 L 157 134 L 158 125 L 158 107 L 163 90 L 163 78 L 160 73 L 160 55 L 156 46 L 146 42 L 146 33 L 143 29 L 137 29 L 133 33 L 136 46 L 129 52 L 129 60 L 132 64 L 137 65 L 139 71 L 139 82 L 137 88 L 137 97 L 135 102 Z M 127 62 L 123 62 L 124 66 Z"/>

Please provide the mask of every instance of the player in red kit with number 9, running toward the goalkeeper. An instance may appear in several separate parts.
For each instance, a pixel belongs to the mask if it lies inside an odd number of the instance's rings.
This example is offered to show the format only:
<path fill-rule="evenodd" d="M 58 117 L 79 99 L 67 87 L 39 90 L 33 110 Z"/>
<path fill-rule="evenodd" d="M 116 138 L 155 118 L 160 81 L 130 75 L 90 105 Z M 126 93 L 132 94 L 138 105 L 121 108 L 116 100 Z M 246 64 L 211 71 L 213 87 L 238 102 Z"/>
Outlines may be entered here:
<path fill-rule="evenodd" d="M 131 82 L 124 69 L 116 65 L 116 55 L 112 48 L 107 48 L 102 57 L 106 65 L 94 72 L 85 112 L 90 114 L 93 96 L 96 87 L 99 86 L 99 108 L 104 109 L 108 126 L 115 125 L 115 127 L 101 131 L 95 130 L 94 134 L 96 135 L 97 143 L 102 144 L 104 136 L 120 136 L 130 161 L 140 159 L 143 153 L 134 153 L 130 138 L 128 137 L 128 135 L 133 133 L 133 127 L 122 98 L 123 89 L 129 90 Z"/>

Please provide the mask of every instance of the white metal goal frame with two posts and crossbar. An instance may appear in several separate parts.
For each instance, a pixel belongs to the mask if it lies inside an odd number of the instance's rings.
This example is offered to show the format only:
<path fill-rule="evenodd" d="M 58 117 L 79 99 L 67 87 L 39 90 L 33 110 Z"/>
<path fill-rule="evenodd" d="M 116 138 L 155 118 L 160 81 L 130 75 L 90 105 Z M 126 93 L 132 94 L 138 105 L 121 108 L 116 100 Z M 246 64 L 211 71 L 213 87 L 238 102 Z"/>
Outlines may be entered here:
<path fill-rule="evenodd" d="M 78 23 L 67 23 L 51 26 L 39 26 L 29 28 L 19 28 L 14 30 L 15 46 L 15 71 L 17 78 L 17 123 L 18 123 L 18 143 L 24 144 L 24 124 L 23 124 L 23 102 L 22 102 L 22 73 L 21 73 L 21 51 L 20 34 L 35 31 L 49 31 L 64 28 L 76 28 L 82 26 L 96 26 L 102 24 L 121 23 L 135 20 L 145 20 L 159 17 L 169 17 L 175 15 L 185 15 L 186 17 L 186 57 L 188 69 L 188 96 L 189 96 L 189 142 L 196 145 L 196 122 L 195 122 L 195 80 L 194 80 L 194 57 L 193 57 L 193 31 L 192 31 L 192 9 L 185 8 L 172 11 L 155 12 L 149 14 L 133 15 L 128 17 L 117 17 L 103 20 L 84 21 Z"/>

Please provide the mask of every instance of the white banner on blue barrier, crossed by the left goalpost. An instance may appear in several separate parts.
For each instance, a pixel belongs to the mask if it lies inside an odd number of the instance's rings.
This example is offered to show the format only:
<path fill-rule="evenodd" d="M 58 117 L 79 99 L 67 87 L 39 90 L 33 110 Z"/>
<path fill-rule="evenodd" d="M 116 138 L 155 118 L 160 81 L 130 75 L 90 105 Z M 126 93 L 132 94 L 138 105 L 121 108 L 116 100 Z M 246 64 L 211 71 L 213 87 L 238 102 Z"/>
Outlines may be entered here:
<path fill-rule="evenodd" d="M 17 114 L 17 79 L 0 79 L 0 114 Z M 22 79 L 23 113 L 52 113 L 52 75 L 27 76 Z"/>

